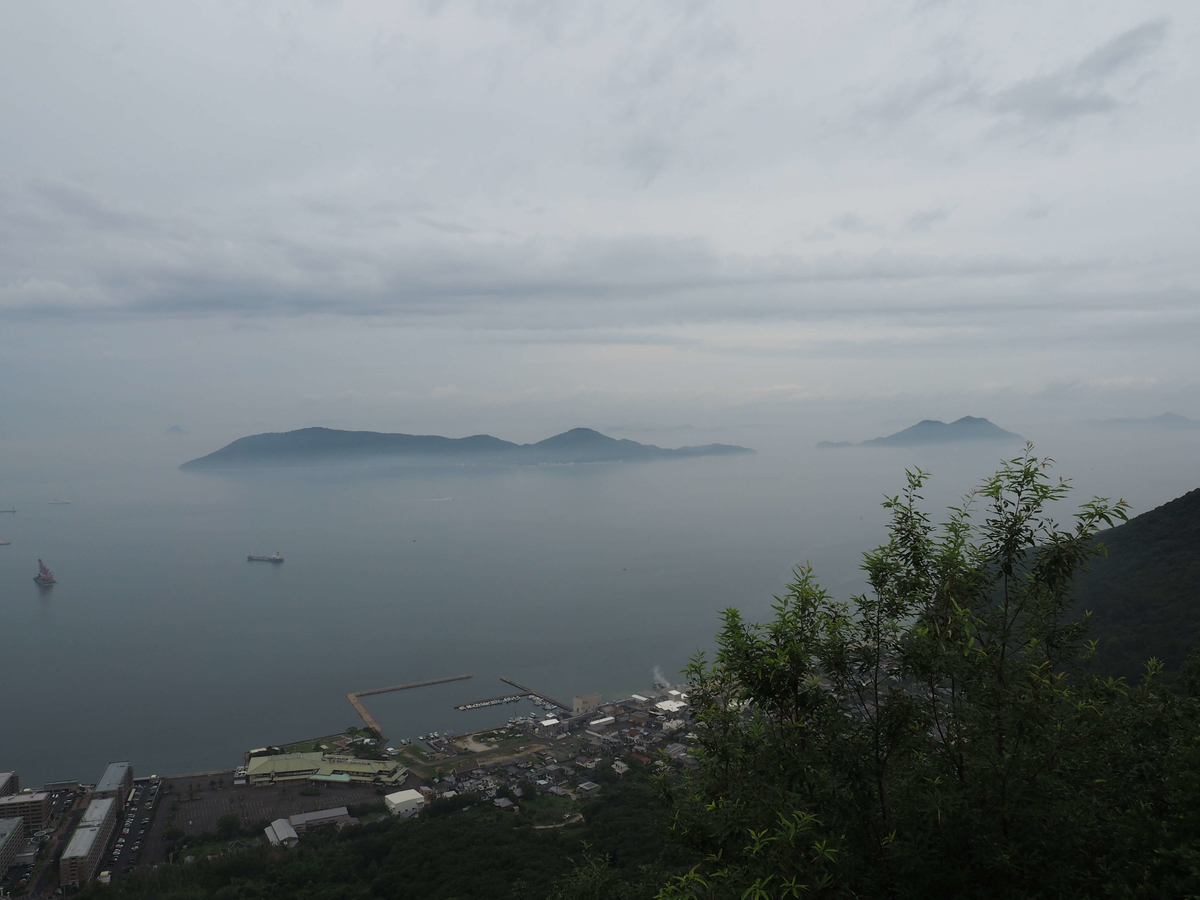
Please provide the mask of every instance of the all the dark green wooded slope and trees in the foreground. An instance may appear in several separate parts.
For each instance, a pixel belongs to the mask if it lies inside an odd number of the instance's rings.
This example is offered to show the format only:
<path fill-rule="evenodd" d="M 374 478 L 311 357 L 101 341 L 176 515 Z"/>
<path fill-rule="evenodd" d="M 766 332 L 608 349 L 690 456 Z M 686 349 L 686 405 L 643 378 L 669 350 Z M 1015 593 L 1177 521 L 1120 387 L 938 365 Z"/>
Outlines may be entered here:
<path fill-rule="evenodd" d="M 1068 502 L 1027 450 L 937 524 L 928 478 L 884 502 L 862 596 L 838 600 L 802 566 L 767 622 L 727 610 L 715 653 L 685 673 L 691 751 L 598 772 L 582 821 L 536 827 L 455 797 L 85 895 L 1195 896 L 1200 491 L 1128 520 L 1120 500 Z M 1139 620 L 1152 626 L 1111 656 Z M 1112 659 L 1141 664 L 1114 673 Z"/>

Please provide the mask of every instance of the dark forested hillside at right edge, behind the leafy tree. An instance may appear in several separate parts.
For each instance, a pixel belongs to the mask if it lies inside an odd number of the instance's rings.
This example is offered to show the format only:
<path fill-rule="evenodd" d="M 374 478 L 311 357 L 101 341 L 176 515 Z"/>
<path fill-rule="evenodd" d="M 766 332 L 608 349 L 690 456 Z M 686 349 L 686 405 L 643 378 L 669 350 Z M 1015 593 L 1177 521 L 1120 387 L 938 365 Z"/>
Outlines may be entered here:
<path fill-rule="evenodd" d="M 1078 580 L 1100 668 L 1136 677 L 1150 656 L 1178 668 L 1200 634 L 1200 490 L 1100 534 L 1108 556 Z"/>

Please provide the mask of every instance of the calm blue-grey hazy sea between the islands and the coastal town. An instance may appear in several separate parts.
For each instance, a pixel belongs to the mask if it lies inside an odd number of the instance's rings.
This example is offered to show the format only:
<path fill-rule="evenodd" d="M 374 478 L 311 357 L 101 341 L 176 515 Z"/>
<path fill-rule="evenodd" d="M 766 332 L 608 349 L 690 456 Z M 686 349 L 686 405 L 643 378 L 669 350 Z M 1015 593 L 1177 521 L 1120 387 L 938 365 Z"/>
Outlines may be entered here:
<path fill-rule="evenodd" d="M 936 514 L 1020 449 L 757 443 L 641 464 L 218 475 L 175 468 L 214 449 L 193 439 L 6 442 L 5 762 L 30 785 L 119 758 L 142 774 L 229 768 L 359 724 L 348 691 L 452 674 L 475 677 L 367 707 L 401 739 L 504 721 L 517 708 L 452 709 L 510 692 L 500 677 L 568 702 L 626 696 L 655 668 L 679 680 L 719 611 L 764 619 L 796 564 L 839 599 L 860 590 L 906 466 L 934 473 Z M 1200 484 L 1198 449 L 1194 433 L 1038 443 L 1076 499 L 1123 496 L 1135 512 Z M 276 550 L 281 566 L 246 562 Z M 38 557 L 59 581 L 47 592 Z"/>

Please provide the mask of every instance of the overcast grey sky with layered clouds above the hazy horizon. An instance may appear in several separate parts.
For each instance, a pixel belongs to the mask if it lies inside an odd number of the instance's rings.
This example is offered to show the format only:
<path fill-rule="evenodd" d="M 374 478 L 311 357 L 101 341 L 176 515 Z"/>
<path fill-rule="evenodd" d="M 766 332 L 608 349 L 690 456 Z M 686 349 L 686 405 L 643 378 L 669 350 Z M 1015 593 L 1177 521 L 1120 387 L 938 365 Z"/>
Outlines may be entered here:
<path fill-rule="evenodd" d="M 0 440 L 1200 418 L 1195 4 L 2 19 Z"/>

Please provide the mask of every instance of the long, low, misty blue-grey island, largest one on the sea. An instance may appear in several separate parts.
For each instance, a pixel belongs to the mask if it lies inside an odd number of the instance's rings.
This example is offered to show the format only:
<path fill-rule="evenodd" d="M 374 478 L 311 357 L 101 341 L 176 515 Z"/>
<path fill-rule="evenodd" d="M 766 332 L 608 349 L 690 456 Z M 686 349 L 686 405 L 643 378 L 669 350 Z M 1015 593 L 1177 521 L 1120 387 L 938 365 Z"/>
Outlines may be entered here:
<path fill-rule="evenodd" d="M 422 463 L 493 463 L 536 466 L 574 462 L 649 462 L 694 456 L 730 456 L 754 450 L 730 444 L 706 444 L 668 450 L 636 440 L 618 440 L 592 428 L 571 428 L 536 444 L 514 444 L 491 434 L 444 438 L 438 434 L 390 434 L 377 431 L 299 431 L 251 434 L 181 469 L 233 469 L 280 466 L 329 466 L 367 460 L 406 460 Z"/>

